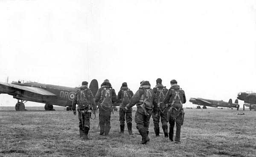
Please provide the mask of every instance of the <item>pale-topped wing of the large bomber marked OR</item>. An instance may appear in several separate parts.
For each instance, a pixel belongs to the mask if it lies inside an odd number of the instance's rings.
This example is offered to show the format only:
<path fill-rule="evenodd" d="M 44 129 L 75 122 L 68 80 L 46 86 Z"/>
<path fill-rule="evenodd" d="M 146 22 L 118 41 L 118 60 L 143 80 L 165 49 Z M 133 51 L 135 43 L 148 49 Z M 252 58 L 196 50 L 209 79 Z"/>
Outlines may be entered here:
<path fill-rule="evenodd" d="M 0 82 L 0 93 L 12 93 L 15 92 L 16 90 L 25 90 L 25 91 L 29 91 L 32 93 L 37 93 L 40 95 L 44 95 L 44 96 L 56 96 L 55 94 L 44 90 L 42 88 L 39 87 L 27 87 L 27 86 L 20 86 L 17 84 L 9 84 L 9 83 L 4 83 L 4 82 Z"/>

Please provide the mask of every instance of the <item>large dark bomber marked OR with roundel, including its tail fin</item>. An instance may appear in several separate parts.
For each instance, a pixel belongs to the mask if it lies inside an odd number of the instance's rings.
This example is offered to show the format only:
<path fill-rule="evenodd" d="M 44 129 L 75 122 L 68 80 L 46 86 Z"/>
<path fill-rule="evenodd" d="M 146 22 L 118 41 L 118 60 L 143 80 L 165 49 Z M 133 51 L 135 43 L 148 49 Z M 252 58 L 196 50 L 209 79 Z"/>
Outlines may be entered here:
<path fill-rule="evenodd" d="M 98 90 L 98 81 L 93 79 L 89 86 L 95 96 Z M 12 81 L 11 84 L 0 82 L 0 94 L 9 94 L 17 99 L 15 110 L 25 110 L 24 103 L 45 103 L 45 110 L 53 110 L 52 105 L 67 106 L 71 110 L 72 101 L 78 88 L 41 84 L 32 81 Z"/>

